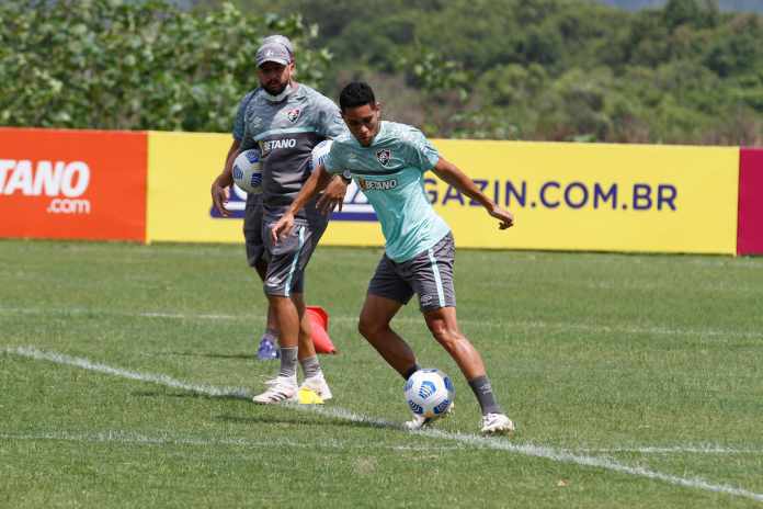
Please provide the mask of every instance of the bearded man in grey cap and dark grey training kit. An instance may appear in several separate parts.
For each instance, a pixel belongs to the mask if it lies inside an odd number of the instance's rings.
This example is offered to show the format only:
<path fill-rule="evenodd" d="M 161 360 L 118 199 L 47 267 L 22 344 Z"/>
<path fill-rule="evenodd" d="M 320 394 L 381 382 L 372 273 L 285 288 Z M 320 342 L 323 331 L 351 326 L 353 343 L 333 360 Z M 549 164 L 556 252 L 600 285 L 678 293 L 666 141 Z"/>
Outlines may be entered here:
<path fill-rule="evenodd" d="M 289 43 L 291 44 L 291 43 Z M 263 170 L 261 206 L 255 196 L 247 200 L 244 234 L 247 253 L 252 263 L 262 267 L 261 276 L 269 307 L 278 330 L 278 376 L 270 387 L 254 397 L 255 403 L 272 404 L 296 398 L 297 360 L 305 372 L 303 386 L 314 389 L 322 399 L 331 398 L 326 378 L 310 339 L 310 325 L 305 316 L 304 271 L 323 234 L 328 218 L 308 204 L 299 216 L 299 229 L 289 242 L 277 249 L 269 245 L 269 225 L 288 207 L 307 180 L 311 149 L 326 138 L 344 131 L 337 105 L 311 88 L 293 79 L 296 64 L 289 46 L 283 41 L 266 38 L 257 53 L 260 88 L 244 98 L 243 122 L 239 140 L 231 146 L 226 168 L 213 184 L 215 206 L 225 210 L 225 189 L 232 182 L 231 166 L 243 150 L 259 146 Z M 349 181 L 349 177 L 346 178 Z M 335 178 L 323 199 L 331 207 L 341 204 L 346 191 L 342 177 Z"/>

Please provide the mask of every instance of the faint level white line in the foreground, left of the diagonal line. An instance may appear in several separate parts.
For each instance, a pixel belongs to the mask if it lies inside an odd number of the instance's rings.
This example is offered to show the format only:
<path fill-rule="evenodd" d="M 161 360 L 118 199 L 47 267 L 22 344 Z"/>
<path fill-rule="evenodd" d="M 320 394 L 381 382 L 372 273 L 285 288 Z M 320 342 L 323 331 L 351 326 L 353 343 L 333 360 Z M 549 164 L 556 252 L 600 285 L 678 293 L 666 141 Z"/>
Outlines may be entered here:
<path fill-rule="evenodd" d="M 400 452 L 430 452 L 430 451 L 464 451 L 466 444 L 456 445 L 388 445 L 378 443 L 351 443 L 337 439 L 321 439 L 319 441 L 298 442 L 285 439 L 267 439 L 263 441 L 248 440 L 242 438 L 196 438 L 183 437 L 174 433 L 160 433 L 158 436 L 146 436 L 121 430 L 107 430 L 101 432 L 79 433 L 71 431 L 39 431 L 34 433 L 9 433 L 0 432 L 0 440 L 29 440 L 29 441 L 62 441 L 62 442 L 89 442 L 89 443 L 119 443 L 132 445 L 193 445 L 193 446 L 218 446 L 230 445 L 242 449 L 389 449 Z"/>

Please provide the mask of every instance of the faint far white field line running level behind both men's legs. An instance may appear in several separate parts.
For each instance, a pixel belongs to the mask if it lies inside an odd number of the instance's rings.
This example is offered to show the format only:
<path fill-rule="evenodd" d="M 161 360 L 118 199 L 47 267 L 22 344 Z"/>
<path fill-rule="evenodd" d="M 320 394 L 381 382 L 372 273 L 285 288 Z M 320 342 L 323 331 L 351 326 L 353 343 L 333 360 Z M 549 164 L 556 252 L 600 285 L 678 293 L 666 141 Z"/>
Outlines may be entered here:
<path fill-rule="evenodd" d="M 227 320 L 227 321 L 251 321 L 249 315 L 228 315 L 228 314 L 190 314 L 190 313 L 172 313 L 172 312 L 114 312 L 106 309 L 89 309 L 89 308 L 16 308 L 16 307 L 0 307 L 0 315 L 104 315 L 104 316 L 125 316 L 136 318 L 159 318 L 159 319 L 176 319 L 176 320 Z M 329 323 L 340 321 L 355 324 L 357 316 L 354 315 L 332 315 Z M 423 320 L 418 317 L 398 317 L 395 318 L 398 324 L 423 324 Z M 686 329 L 672 327 L 642 327 L 642 326 L 611 326 L 595 324 L 579 324 L 565 321 L 543 321 L 543 320 L 470 320 L 468 318 L 459 318 L 458 323 L 464 326 L 489 326 L 500 329 L 543 329 L 543 330 L 561 330 L 561 331 L 582 331 L 582 332 L 612 332 L 626 335 L 651 335 L 651 336 L 698 336 L 698 337 L 721 337 L 737 339 L 763 340 L 763 332 L 748 330 L 729 330 L 729 329 Z"/>

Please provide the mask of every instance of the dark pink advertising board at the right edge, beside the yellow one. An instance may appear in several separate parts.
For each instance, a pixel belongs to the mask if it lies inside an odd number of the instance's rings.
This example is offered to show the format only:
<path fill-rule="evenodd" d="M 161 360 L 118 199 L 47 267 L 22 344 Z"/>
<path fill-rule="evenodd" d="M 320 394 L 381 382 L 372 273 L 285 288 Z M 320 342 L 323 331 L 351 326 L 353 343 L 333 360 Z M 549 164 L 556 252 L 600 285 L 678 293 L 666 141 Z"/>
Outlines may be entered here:
<path fill-rule="evenodd" d="M 739 158 L 737 255 L 763 255 L 763 148 L 742 148 Z"/>

